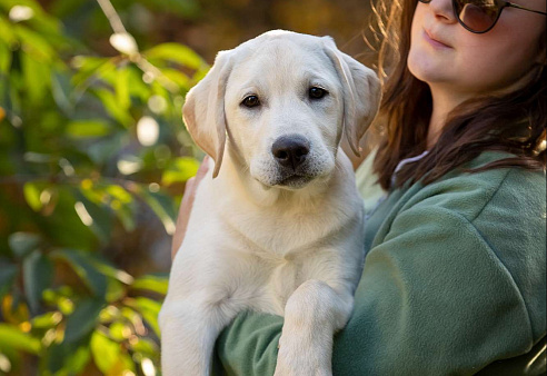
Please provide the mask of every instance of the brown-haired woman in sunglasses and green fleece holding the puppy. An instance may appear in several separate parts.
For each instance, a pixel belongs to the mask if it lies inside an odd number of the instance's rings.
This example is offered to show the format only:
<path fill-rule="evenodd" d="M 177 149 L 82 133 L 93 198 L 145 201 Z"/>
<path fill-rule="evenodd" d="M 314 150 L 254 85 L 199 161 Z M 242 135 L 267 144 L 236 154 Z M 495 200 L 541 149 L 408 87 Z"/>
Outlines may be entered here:
<path fill-rule="evenodd" d="M 515 1 L 377 7 L 379 71 L 391 68 L 374 170 L 387 194 L 368 212 L 335 375 L 475 374 L 545 337 L 546 3 Z M 271 375 L 281 326 L 238 316 L 217 343 L 227 373 Z"/>

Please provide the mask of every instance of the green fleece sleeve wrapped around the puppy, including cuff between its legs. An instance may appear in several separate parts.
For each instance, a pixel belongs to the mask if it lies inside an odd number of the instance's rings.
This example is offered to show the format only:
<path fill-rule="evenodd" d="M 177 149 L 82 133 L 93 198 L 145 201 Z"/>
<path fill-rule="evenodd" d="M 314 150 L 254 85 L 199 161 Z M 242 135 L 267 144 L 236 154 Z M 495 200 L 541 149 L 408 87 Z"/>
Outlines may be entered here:
<path fill-rule="evenodd" d="M 281 326 L 281 317 L 238 316 L 218 340 L 228 375 L 272 375 Z M 474 374 L 533 342 L 519 288 L 480 231 L 455 211 L 416 205 L 368 253 L 332 370 Z"/>

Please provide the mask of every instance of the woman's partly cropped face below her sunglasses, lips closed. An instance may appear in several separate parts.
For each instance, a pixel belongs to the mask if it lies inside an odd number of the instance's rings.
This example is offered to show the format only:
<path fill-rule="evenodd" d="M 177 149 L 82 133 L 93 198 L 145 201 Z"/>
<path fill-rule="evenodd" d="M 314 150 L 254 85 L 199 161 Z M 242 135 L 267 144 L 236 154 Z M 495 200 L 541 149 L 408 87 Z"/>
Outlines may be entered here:
<path fill-rule="evenodd" d="M 515 0 L 546 11 L 546 1 Z M 454 93 L 476 96 L 518 85 L 540 56 L 545 16 L 505 8 L 483 34 L 466 30 L 454 16 L 450 0 L 418 2 L 412 19 L 408 69 L 421 81 Z M 545 62 L 544 62 L 545 63 Z"/>

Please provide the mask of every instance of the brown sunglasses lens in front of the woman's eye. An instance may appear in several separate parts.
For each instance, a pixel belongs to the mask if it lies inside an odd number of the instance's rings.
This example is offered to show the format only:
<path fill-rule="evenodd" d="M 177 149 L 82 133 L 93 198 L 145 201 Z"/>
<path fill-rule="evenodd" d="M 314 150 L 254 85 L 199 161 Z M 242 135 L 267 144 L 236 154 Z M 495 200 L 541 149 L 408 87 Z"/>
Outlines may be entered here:
<path fill-rule="evenodd" d="M 501 11 L 496 0 L 454 0 L 454 7 L 459 21 L 475 32 L 490 29 Z"/>

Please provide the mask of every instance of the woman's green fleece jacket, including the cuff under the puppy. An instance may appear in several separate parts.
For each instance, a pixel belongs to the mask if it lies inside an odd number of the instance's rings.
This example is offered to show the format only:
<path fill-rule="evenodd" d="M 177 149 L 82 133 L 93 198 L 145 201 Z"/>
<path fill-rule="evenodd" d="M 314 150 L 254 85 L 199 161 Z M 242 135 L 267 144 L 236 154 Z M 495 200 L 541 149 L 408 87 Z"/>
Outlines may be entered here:
<path fill-rule="evenodd" d="M 501 157 L 485 152 L 464 167 Z M 469 375 L 545 336 L 544 171 L 457 169 L 392 190 L 369 208 L 365 235 L 354 314 L 335 336 L 335 375 Z M 217 369 L 272 375 L 282 324 L 239 315 L 217 342 Z"/>

